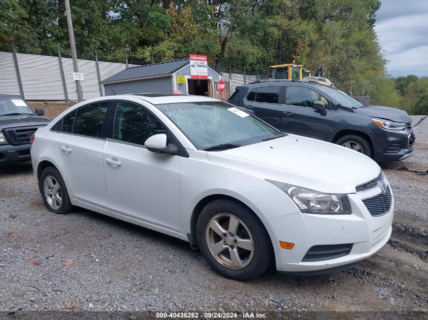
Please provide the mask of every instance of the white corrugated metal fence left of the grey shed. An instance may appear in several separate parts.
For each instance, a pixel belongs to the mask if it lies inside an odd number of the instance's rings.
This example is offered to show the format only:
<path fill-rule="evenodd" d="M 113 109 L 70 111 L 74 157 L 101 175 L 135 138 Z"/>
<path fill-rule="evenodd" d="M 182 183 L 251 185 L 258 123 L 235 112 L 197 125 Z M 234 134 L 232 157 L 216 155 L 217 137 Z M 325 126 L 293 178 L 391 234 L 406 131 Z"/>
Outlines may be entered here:
<path fill-rule="evenodd" d="M 97 70 L 96 61 L 78 59 L 77 62 L 85 78 L 81 81 L 85 100 L 105 94 L 98 81 L 98 70 L 102 81 L 126 68 L 124 63 L 99 61 Z M 0 52 L 0 94 L 23 95 L 26 100 L 77 100 L 72 60 Z"/>

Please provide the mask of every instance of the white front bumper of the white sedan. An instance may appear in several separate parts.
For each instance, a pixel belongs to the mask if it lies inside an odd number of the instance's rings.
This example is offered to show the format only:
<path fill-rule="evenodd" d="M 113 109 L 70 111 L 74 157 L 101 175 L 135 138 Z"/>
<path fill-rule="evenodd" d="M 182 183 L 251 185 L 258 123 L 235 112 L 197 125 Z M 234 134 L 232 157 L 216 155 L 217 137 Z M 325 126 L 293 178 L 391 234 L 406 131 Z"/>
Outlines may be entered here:
<path fill-rule="evenodd" d="M 348 265 L 366 259 L 390 239 L 394 217 L 391 209 L 372 216 L 362 202 L 381 192 L 380 188 L 349 194 L 352 214 L 321 215 L 301 212 L 263 221 L 271 235 L 278 271 L 308 272 Z M 294 243 L 291 250 L 281 249 L 279 241 Z M 338 258 L 302 261 L 313 246 L 353 244 L 351 251 Z M 333 269 L 334 270 L 334 269 Z"/>

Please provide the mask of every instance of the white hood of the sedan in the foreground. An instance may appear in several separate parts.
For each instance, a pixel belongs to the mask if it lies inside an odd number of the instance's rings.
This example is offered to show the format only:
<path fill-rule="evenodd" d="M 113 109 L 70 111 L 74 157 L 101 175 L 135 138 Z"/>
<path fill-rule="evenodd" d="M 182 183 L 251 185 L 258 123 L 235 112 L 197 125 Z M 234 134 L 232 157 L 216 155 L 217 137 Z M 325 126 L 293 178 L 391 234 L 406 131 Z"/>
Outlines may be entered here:
<path fill-rule="evenodd" d="M 324 141 L 289 134 L 283 138 L 219 152 L 213 163 L 325 193 L 355 193 L 380 168 L 369 157 Z"/>

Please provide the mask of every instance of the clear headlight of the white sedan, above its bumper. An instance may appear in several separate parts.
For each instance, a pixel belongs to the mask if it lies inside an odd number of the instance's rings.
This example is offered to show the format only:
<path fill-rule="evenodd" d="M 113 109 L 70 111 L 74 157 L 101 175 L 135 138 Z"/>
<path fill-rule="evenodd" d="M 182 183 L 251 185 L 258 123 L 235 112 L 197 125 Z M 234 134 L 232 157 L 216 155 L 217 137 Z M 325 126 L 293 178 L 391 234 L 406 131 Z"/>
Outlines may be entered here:
<path fill-rule="evenodd" d="M 284 191 L 303 213 L 351 214 L 351 203 L 347 195 L 332 195 L 305 189 L 282 182 L 266 180 Z"/>

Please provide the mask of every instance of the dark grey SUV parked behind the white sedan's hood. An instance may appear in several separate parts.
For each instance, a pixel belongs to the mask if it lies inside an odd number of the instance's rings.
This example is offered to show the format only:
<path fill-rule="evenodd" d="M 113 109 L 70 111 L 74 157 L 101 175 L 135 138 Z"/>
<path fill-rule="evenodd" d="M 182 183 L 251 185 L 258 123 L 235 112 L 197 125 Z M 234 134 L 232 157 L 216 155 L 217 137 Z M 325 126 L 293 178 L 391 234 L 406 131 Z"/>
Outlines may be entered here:
<path fill-rule="evenodd" d="M 228 102 L 281 131 L 342 145 L 378 162 L 413 153 L 412 120 L 405 111 L 363 105 L 315 81 L 255 81 L 237 87 Z"/>

